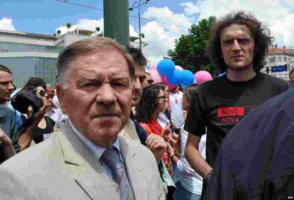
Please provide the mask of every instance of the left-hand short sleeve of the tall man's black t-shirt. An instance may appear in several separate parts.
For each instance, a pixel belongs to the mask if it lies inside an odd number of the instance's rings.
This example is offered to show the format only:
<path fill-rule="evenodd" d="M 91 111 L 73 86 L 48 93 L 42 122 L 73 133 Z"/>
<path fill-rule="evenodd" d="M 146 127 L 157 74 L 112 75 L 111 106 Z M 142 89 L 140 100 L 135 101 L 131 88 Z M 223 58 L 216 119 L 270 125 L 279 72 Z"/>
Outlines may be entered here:
<path fill-rule="evenodd" d="M 200 112 L 200 102 L 198 95 L 195 94 L 189 106 L 188 115 L 186 118 L 184 130 L 193 135 L 204 135 L 206 133 L 203 116 Z"/>

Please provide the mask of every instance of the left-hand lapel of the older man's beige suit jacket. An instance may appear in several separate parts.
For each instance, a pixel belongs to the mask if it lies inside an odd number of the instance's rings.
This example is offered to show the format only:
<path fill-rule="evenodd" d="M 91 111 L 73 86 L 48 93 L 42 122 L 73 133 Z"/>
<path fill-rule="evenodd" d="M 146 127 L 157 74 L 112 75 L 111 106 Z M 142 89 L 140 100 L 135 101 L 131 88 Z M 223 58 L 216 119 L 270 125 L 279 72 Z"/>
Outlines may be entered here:
<path fill-rule="evenodd" d="M 77 137 L 67 121 L 58 134 L 59 143 L 64 154 L 64 160 L 69 165 L 77 165 L 76 183 L 91 199 L 120 200 L 114 192 L 113 185 L 106 171 L 91 151 Z"/>

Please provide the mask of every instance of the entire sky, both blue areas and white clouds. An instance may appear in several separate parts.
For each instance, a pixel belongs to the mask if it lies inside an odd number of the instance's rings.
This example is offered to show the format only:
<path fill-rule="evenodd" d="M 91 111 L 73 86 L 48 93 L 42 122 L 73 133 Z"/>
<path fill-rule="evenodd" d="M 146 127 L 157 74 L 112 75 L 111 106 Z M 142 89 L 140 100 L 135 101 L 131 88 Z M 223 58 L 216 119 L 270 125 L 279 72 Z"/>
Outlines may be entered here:
<path fill-rule="evenodd" d="M 103 9 L 103 0 L 68 0 Z M 190 27 L 202 18 L 221 17 L 230 11 L 245 10 L 267 24 L 278 46 L 294 48 L 293 0 L 151 0 L 141 6 L 141 17 L 161 22 Z M 129 0 L 133 5 L 135 0 Z M 138 16 L 138 9 L 129 12 Z M 103 11 L 70 5 L 55 0 L 1 0 L 0 29 L 21 32 L 51 34 L 60 29 L 65 33 L 66 23 L 73 28 L 103 30 Z M 174 49 L 174 40 L 188 34 L 187 28 L 141 20 L 144 41 L 149 45 L 143 53 L 156 64 L 169 49 Z M 138 18 L 130 17 L 130 35 L 138 35 Z"/>

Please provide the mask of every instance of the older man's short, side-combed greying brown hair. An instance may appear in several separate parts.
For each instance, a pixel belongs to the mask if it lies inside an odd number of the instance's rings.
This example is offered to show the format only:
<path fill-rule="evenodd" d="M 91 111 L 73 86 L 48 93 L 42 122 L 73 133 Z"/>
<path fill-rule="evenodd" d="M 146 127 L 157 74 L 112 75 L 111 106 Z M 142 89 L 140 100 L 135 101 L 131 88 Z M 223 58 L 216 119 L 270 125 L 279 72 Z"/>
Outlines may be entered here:
<path fill-rule="evenodd" d="M 56 68 L 61 86 L 67 87 L 66 77 L 69 75 L 69 66 L 72 60 L 81 55 L 88 55 L 89 53 L 101 52 L 109 49 L 118 51 L 125 57 L 128 63 L 130 78 L 133 82 L 135 79 L 134 60 L 132 56 L 128 54 L 126 48 L 111 38 L 92 37 L 74 42 L 60 52 L 57 58 Z"/>

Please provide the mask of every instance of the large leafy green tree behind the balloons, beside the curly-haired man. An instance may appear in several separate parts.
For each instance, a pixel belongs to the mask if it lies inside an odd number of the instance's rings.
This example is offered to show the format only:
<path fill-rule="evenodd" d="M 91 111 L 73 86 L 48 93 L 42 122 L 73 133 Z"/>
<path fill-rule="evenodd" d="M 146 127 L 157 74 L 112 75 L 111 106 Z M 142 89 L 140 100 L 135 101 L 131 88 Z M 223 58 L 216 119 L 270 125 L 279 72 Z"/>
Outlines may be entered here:
<path fill-rule="evenodd" d="M 211 24 L 216 21 L 215 16 L 202 19 L 198 24 L 193 24 L 189 29 L 188 35 L 182 35 L 175 40 L 175 50 L 168 50 L 168 57 L 176 65 L 196 73 L 206 70 L 210 73 L 215 71 L 209 65 L 210 60 L 206 55 L 206 44 L 210 37 Z"/>

